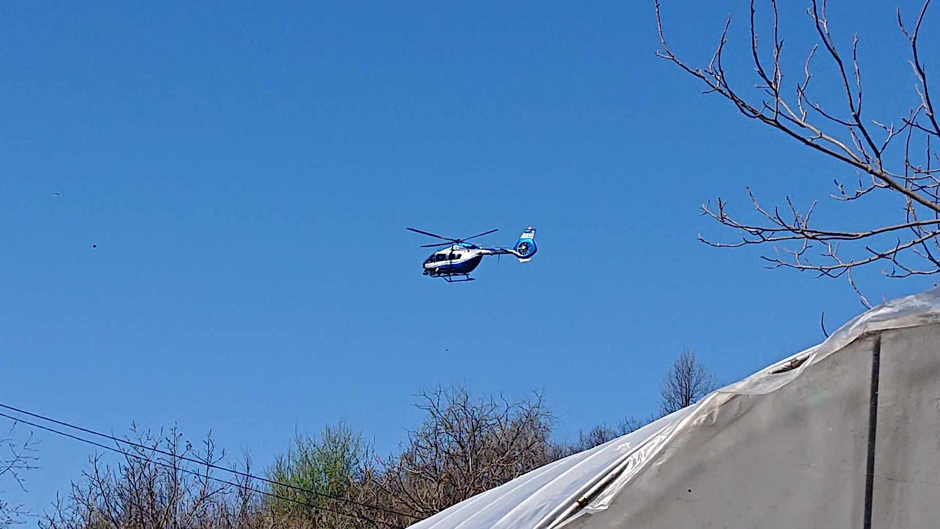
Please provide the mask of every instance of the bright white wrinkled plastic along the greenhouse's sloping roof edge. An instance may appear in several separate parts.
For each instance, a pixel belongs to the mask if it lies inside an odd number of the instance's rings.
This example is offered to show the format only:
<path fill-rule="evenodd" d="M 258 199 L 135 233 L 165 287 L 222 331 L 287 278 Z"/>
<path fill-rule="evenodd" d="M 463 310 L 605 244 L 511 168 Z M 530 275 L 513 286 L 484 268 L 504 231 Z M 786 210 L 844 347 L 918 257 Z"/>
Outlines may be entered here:
<path fill-rule="evenodd" d="M 688 408 L 482 492 L 411 527 L 550 528 L 602 511 L 611 506 L 620 491 L 631 485 L 641 470 L 670 463 L 666 447 L 684 429 L 696 428 L 699 419 L 727 405 L 729 396 L 774 392 L 868 333 L 938 322 L 940 288 L 883 303 L 840 327 L 822 344 L 718 389 Z"/>

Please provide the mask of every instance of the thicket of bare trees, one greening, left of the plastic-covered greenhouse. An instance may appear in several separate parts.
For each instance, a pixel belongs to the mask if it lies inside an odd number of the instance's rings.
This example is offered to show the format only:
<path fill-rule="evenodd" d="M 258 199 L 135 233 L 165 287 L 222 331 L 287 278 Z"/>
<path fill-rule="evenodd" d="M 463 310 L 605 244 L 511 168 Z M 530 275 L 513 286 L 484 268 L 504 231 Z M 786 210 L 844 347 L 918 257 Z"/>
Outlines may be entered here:
<path fill-rule="evenodd" d="M 82 479 L 57 499 L 48 529 L 372 529 L 406 527 L 540 466 L 632 431 L 600 425 L 578 443 L 556 443 L 555 422 L 540 394 L 519 400 L 474 397 L 465 387 L 422 391 L 424 413 L 400 450 L 376 458 L 370 443 L 343 423 L 317 437 L 296 436 L 267 478 L 227 475 L 211 437 L 201 450 L 175 428 L 132 428 L 116 443 L 125 454 L 108 465 L 90 459 Z M 106 453 L 107 454 L 107 453 Z M 215 472 L 219 471 L 219 472 Z M 221 474 L 222 481 L 216 474 Z M 226 480 L 230 480 L 226 482 Z M 262 481 L 263 483 L 258 483 Z"/>

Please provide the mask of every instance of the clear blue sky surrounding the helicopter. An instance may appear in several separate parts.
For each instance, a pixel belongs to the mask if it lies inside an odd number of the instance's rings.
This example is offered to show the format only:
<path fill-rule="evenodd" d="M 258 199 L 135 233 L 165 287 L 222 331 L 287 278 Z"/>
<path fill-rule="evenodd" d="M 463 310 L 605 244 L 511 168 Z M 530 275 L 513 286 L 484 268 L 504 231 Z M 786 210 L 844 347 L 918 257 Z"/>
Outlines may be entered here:
<path fill-rule="evenodd" d="M 665 0 L 672 46 L 707 62 L 733 10 L 729 68 L 751 83 L 744 2 L 719 4 Z M 878 65 L 870 108 L 900 115 L 894 4 L 833 4 Z M 709 197 L 806 204 L 853 175 L 656 59 L 651 2 L 8 2 L 0 20 L 0 401 L 211 428 L 261 465 L 339 419 L 387 453 L 436 383 L 543 388 L 570 436 L 648 415 L 684 347 L 734 381 L 861 308 L 842 281 L 697 242 L 724 233 L 697 215 Z M 527 225 L 532 262 L 458 285 L 421 275 L 428 241 L 404 229 L 509 244 Z M 37 435 L 34 509 L 90 453 Z"/>

